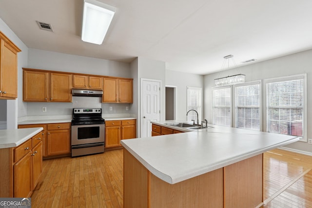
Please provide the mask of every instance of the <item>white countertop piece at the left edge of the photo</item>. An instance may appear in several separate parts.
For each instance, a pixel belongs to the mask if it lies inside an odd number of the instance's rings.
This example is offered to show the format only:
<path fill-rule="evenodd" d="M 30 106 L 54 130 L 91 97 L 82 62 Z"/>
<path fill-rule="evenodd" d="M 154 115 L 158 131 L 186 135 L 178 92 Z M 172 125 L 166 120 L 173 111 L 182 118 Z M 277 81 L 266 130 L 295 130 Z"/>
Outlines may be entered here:
<path fill-rule="evenodd" d="M 0 130 L 0 149 L 17 147 L 42 130 L 42 127 Z"/>

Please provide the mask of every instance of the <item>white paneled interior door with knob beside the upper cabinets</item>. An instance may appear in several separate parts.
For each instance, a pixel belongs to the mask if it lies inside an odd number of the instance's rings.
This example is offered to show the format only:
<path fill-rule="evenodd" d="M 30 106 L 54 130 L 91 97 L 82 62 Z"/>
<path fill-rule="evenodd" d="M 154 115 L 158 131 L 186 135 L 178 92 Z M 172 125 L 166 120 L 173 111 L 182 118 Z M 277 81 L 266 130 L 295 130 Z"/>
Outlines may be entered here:
<path fill-rule="evenodd" d="M 161 81 L 142 79 L 141 88 L 141 137 L 151 136 L 151 121 L 160 120 Z"/>

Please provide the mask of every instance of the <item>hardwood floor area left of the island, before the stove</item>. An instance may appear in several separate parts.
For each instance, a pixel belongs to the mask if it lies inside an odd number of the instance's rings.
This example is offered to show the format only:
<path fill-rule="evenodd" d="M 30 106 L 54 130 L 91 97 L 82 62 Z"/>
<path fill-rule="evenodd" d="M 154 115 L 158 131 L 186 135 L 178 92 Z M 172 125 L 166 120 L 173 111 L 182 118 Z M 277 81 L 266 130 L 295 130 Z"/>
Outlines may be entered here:
<path fill-rule="evenodd" d="M 43 161 L 33 208 L 122 208 L 123 150 Z"/>

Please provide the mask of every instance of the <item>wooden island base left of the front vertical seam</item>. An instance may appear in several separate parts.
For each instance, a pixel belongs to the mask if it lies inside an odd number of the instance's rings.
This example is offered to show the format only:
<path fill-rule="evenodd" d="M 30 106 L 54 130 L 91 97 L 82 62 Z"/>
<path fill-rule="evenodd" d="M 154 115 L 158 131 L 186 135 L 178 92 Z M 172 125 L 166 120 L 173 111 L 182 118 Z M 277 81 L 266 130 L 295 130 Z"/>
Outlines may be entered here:
<path fill-rule="evenodd" d="M 223 208 L 223 169 L 168 184 L 124 150 L 124 208 Z"/>

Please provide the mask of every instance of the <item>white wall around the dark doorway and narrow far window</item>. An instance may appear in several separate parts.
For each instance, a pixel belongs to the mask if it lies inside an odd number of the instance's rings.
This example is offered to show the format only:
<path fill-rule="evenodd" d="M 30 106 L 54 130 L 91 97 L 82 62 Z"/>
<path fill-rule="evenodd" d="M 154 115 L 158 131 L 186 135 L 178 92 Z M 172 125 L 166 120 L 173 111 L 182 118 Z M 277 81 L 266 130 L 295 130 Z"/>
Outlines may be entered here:
<path fill-rule="evenodd" d="M 204 89 L 204 76 L 166 70 L 166 85 L 176 86 L 176 120 L 187 120 L 187 87 L 201 87 Z M 203 104 L 202 101 L 201 115 L 204 115 Z M 205 116 L 202 116 L 202 118 L 198 119 L 200 121 L 204 118 Z"/>

